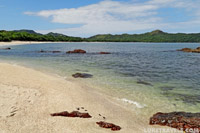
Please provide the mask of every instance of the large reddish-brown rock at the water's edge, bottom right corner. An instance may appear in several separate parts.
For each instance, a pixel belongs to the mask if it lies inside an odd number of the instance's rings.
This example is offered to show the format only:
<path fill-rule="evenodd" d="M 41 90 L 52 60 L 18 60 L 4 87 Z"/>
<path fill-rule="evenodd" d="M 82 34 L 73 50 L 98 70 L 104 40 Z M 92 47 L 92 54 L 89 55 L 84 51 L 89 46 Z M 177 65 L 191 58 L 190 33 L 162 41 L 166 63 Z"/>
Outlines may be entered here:
<path fill-rule="evenodd" d="M 200 132 L 200 113 L 158 112 L 150 118 L 149 124 L 169 126 L 186 132 L 189 130 Z"/>

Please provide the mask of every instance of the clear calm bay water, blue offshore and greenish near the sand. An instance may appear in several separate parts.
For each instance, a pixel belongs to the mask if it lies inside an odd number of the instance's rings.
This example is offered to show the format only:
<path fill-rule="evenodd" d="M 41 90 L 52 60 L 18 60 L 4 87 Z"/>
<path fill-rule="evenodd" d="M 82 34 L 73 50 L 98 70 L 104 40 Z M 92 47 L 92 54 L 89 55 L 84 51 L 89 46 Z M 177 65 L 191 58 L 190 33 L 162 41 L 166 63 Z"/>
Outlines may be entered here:
<path fill-rule="evenodd" d="M 1 50 L 0 59 L 65 78 L 76 72 L 92 74 L 91 79 L 76 80 L 144 114 L 196 112 L 200 108 L 200 54 L 176 50 L 199 46 L 195 43 L 29 44 Z M 41 49 L 62 52 L 38 53 Z M 74 49 L 84 49 L 87 54 L 66 54 Z M 97 54 L 100 51 L 112 54 Z"/>

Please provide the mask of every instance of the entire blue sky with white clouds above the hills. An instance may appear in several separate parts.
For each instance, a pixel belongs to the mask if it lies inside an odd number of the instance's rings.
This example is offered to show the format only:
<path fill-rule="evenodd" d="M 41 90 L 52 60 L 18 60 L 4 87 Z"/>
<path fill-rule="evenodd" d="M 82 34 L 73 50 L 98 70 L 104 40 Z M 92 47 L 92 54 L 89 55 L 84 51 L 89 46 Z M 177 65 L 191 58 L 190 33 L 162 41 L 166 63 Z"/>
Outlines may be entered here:
<path fill-rule="evenodd" d="M 0 0 L 0 30 L 89 37 L 200 32 L 200 0 Z"/>

